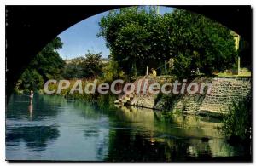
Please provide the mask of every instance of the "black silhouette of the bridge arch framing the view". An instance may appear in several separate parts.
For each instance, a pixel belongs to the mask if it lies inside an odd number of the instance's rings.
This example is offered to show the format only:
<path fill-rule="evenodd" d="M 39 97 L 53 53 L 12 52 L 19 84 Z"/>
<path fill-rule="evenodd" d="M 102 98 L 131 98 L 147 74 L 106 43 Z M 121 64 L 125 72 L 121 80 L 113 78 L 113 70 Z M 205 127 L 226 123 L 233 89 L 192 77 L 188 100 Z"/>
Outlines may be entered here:
<path fill-rule="evenodd" d="M 122 7 L 127 6 L 6 6 L 7 99 L 32 57 L 61 31 L 92 15 Z M 251 6 L 170 7 L 205 15 L 251 43 Z"/>

